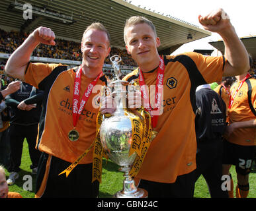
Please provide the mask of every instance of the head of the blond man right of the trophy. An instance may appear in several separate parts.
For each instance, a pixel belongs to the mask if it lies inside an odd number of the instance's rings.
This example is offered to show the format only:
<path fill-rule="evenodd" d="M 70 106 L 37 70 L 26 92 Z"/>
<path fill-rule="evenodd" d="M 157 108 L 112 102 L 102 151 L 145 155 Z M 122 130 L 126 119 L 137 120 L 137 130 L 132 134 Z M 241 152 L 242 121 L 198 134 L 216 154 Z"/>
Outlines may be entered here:
<path fill-rule="evenodd" d="M 126 49 L 142 71 L 151 71 L 159 65 L 157 47 L 160 40 L 146 23 L 130 26 L 125 31 Z"/>

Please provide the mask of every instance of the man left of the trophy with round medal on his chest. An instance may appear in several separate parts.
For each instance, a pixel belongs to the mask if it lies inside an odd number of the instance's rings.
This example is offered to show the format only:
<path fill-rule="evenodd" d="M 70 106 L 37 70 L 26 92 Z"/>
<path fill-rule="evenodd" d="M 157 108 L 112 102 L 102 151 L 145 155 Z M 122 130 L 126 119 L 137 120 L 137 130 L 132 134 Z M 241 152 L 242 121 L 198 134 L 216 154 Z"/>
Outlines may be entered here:
<path fill-rule="evenodd" d="M 105 58 L 110 36 L 101 23 L 89 26 L 81 42 L 83 60 L 77 69 L 66 65 L 30 63 L 38 44 L 55 45 L 50 28 L 34 30 L 7 61 L 9 75 L 44 90 L 42 116 L 36 148 L 42 151 L 38 164 L 36 197 L 97 197 L 99 182 L 92 181 L 93 152 L 90 150 L 67 178 L 59 175 L 95 139 L 99 109 L 92 105 L 96 85 L 106 85 Z"/>

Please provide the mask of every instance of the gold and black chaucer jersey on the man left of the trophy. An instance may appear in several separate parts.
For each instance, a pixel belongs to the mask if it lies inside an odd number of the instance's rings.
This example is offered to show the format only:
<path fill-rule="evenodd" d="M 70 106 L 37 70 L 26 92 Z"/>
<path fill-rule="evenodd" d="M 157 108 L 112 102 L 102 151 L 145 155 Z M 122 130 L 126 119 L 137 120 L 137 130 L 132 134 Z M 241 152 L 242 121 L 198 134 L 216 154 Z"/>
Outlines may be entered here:
<path fill-rule="evenodd" d="M 95 139 L 99 112 L 97 97 L 101 86 L 107 84 L 105 75 L 101 76 L 77 121 L 75 129 L 79 132 L 79 139 L 71 141 L 68 133 L 73 129 L 75 71 L 61 64 L 30 63 L 25 73 L 26 82 L 44 90 L 36 148 L 71 163 L 75 162 Z M 93 79 L 82 74 L 80 100 L 92 81 Z M 80 164 L 89 164 L 92 158 L 93 152 L 89 152 Z"/>

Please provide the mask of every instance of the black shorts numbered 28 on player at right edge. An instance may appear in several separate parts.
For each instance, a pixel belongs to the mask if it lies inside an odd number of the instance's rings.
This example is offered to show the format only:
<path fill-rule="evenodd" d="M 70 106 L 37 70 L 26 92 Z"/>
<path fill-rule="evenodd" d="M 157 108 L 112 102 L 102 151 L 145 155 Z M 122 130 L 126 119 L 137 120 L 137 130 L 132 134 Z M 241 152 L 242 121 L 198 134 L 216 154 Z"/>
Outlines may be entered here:
<path fill-rule="evenodd" d="M 224 140 L 223 164 L 235 165 L 236 171 L 241 175 L 251 172 L 255 156 L 255 146 L 241 146 Z"/>

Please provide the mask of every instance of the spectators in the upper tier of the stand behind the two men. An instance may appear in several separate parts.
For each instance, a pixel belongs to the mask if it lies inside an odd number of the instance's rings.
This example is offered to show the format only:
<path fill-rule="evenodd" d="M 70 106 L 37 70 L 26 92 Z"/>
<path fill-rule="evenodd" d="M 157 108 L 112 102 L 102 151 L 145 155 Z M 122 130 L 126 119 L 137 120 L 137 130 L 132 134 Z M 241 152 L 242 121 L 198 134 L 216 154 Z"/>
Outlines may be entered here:
<path fill-rule="evenodd" d="M 0 29 L 0 53 L 13 53 L 13 51 L 24 42 L 27 36 L 28 34 L 26 33 L 13 31 L 5 32 Z M 122 57 L 120 65 L 137 66 L 132 57 L 128 55 L 126 49 L 112 47 L 110 55 L 105 60 L 106 64 L 111 64 L 110 57 L 112 55 L 120 55 Z M 33 51 L 32 56 L 81 61 L 81 43 L 56 39 L 56 45 L 38 45 Z"/>

